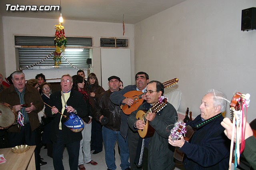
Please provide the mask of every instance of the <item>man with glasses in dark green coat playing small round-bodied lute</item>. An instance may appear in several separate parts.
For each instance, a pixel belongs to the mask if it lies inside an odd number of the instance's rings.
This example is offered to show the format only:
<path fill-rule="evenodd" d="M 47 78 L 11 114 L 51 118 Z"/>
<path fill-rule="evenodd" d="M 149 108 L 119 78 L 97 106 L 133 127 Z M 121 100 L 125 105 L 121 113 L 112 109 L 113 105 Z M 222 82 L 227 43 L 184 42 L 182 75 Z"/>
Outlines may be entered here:
<path fill-rule="evenodd" d="M 146 88 L 146 100 L 139 108 L 130 114 L 128 118 L 128 125 L 134 132 L 144 129 L 144 121 L 138 120 L 136 114 L 138 110 L 149 110 L 154 104 L 162 98 L 164 94 L 164 85 L 159 81 L 151 81 Z M 174 147 L 168 144 L 168 136 L 170 132 L 166 127 L 175 123 L 177 112 L 170 103 L 160 110 L 160 112 L 148 112 L 146 120 L 149 121 L 150 126 L 154 128 L 154 135 L 150 138 L 144 138 L 142 141 L 142 169 L 143 170 L 170 170 L 174 167 L 173 161 Z M 143 147 L 144 145 L 144 147 Z M 139 161 L 138 161 L 139 160 Z M 141 164 L 141 156 L 136 159 L 137 164 Z"/>

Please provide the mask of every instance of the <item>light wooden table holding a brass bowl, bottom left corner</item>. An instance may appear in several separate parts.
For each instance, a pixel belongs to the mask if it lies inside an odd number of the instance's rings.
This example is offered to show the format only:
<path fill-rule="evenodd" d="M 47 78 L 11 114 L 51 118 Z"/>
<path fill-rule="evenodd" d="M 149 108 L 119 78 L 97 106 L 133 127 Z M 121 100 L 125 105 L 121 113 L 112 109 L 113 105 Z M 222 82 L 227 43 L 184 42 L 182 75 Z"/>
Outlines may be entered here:
<path fill-rule="evenodd" d="M 16 154 L 11 148 L 0 149 L 0 154 L 4 154 L 5 163 L 0 164 L 0 170 L 35 170 L 35 150 L 36 146 L 30 146 L 26 152 Z"/>

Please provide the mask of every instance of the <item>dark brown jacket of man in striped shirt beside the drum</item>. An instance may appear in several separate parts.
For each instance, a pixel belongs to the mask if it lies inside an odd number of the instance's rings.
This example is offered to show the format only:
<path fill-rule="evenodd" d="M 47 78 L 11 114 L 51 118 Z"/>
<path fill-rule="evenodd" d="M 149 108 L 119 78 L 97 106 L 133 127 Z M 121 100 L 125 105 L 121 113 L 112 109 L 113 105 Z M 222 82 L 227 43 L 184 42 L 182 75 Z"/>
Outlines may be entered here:
<path fill-rule="evenodd" d="M 30 122 L 31 130 L 35 130 L 39 127 L 38 112 L 43 109 L 44 102 L 36 88 L 26 85 L 26 90 L 24 94 L 25 103 L 28 104 L 27 107 L 30 107 L 30 103 L 33 102 L 33 105 L 36 107 L 36 110 L 28 113 L 28 119 Z M 11 106 L 20 104 L 20 98 L 16 92 L 14 86 L 4 89 L 0 93 L 0 102 L 5 102 Z M 20 124 L 15 124 L 10 126 L 7 130 L 8 132 L 20 132 Z"/>

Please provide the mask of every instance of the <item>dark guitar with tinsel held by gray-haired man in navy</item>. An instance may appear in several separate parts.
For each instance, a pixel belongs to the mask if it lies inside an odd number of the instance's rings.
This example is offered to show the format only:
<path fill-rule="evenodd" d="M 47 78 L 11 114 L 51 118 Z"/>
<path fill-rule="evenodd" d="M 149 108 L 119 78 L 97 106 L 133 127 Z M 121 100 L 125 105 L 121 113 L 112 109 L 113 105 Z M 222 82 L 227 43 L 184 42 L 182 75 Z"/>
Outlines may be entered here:
<path fill-rule="evenodd" d="M 178 128 L 178 129 L 180 129 L 180 128 Z M 180 135 L 180 136 L 183 135 L 184 136 L 184 140 L 186 140 L 188 142 L 190 140 L 190 138 L 193 136 L 194 132 L 195 132 L 195 129 L 188 125 L 188 126 L 186 126 L 186 134 L 185 135 L 184 134 L 178 134 L 178 135 Z M 180 148 L 176 146 L 173 157 L 176 160 L 178 160 L 180 162 L 183 162 L 184 155 L 185 155 L 184 152 L 182 152 L 180 150 Z"/>

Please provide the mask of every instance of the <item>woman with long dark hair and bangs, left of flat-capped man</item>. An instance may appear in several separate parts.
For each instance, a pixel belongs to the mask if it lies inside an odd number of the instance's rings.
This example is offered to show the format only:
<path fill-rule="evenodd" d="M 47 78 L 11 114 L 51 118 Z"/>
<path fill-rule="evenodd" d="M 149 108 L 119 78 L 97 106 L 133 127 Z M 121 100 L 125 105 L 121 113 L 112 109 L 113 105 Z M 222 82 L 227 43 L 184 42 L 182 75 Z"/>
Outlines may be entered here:
<path fill-rule="evenodd" d="M 94 108 L 94 104 L 98 101 L 100 94 L 102 92 L 105 92 L 105 90 L 101 86 L 99 86 L 98 78 L 94 73 L 89 74 L 85 90 L 89 96 L 92 108 Z M 99 152 L 101 152 L 102 147 L 102 126 L 100 122 L 92 119 L 91 150 L 94 150 L 92 154 L 98 154 Z"/>

